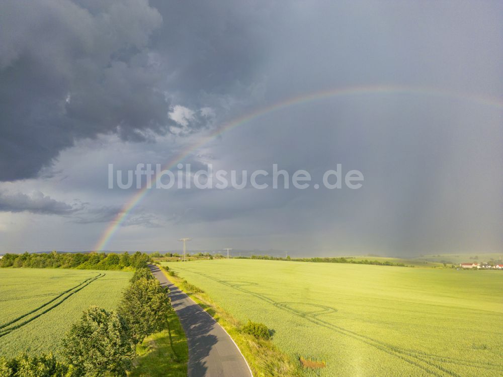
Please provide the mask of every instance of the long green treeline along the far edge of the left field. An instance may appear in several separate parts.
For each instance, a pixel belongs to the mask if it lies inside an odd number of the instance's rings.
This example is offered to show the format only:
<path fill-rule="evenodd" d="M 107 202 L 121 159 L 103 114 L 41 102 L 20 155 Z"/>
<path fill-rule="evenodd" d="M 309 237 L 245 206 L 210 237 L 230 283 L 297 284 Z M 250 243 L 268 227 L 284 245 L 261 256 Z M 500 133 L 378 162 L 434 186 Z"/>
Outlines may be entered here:
<path fill-rule="evenodd" d="M 0 267 L 28 268 L 77 268 L 121 270 L 126 267 L 144 268 L 150 262 L 150 256 L 139 251 L 132 255 L 114 253 L 51 253 L 5 254 L 0 259 Z"/>

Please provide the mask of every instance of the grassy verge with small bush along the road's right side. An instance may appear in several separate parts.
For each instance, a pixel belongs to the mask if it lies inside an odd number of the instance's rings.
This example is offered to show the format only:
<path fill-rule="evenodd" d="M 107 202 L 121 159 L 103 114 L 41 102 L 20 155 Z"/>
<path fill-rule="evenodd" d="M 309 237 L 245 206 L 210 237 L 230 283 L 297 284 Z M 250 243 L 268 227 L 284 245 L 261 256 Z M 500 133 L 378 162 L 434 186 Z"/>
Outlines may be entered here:
<path fill-rule="evenodd" d="M 261 340 L 242 333 L 240 328 L 244 324 L 216 305 L 202 290 L 177 275 L 168 274 L 163 268 L 161 271 L 227 331 L 239 347 L 255 377 L 303 375 L 297 360 L 281 352 L 270 340 Z"/>

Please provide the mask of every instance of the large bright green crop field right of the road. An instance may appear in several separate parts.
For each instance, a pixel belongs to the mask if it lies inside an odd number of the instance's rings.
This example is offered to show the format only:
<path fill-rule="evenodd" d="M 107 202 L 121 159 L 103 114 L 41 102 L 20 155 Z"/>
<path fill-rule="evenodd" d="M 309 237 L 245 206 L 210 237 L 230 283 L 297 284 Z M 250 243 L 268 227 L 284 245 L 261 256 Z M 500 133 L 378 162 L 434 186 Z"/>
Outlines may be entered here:
<path fill-rule="evenodd" d="M 320 376 L 503 375 L 503 272 L 269 260 L 165 262 Z M 312 363 L 313 365 L 315 363 Z"/>

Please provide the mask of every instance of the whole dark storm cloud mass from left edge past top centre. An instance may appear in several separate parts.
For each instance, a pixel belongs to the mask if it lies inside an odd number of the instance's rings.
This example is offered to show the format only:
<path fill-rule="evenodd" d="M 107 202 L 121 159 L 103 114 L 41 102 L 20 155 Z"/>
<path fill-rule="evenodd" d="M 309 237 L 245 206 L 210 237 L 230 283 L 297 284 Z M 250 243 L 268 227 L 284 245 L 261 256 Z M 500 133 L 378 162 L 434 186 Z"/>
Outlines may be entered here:
<path fill-rule="evenodd" d="M 117 133 L 140 141 L 170 132 L 174 99 L 199 107 L 185 134 L 204 127 L 213 118 L 204 104 L 232 102 L 228 93 L 250 84 L 260 55 L 242 22 L 253 7 L 240 8 L 3 2 L 0 181 L 36 176 L 81 138 Z M 249 29 L 258 30 L 253 23 Z"/>

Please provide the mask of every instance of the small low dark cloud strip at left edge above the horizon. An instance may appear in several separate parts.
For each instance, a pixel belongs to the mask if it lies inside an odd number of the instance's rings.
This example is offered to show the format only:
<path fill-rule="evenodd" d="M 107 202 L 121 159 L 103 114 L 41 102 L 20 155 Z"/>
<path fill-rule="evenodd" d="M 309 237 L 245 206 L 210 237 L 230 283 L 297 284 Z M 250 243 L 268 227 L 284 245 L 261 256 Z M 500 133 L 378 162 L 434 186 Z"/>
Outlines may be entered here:
<path fill-rule="evenodd" d="M 71 215 L 78 211 L 78 205 L 58 202 L 41 192 L 31 196 L 22 193 L 0 191 L 0 212 L 31 212 L 43 215 Z"/>

